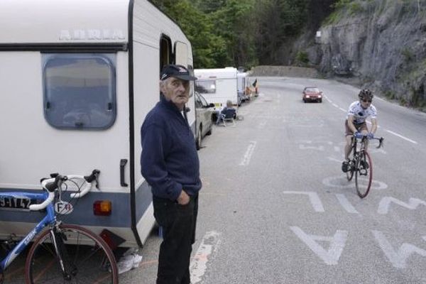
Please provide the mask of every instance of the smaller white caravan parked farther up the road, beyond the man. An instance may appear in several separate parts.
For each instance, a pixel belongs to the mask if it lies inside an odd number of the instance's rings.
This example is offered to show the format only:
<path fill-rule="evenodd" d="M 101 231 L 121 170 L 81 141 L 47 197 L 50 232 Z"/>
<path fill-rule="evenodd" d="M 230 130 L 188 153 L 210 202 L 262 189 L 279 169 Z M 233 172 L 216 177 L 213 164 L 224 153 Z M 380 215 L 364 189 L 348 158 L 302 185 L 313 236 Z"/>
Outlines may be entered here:
<path fill-rule="evenodd" d="M 236 73 L 234 67 L 221 69 L 195 69 L 195 90 L 200 92 L 207 102 L 216 107 L 226 105 L 227 100 L 238 105 L 238 93 L 236 87 Z"/>

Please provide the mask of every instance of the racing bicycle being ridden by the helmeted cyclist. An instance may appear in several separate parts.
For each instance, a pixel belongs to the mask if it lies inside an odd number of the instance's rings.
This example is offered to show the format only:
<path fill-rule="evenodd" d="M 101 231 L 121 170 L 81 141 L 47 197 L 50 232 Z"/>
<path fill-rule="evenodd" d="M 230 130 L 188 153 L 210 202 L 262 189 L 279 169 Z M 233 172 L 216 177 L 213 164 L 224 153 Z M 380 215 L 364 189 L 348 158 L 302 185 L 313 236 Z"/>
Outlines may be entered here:
<path fill-rule="evenodd" d="M 373 163 L 371 161 L 370 154 L 366 150 L 366 142 L 368 139 L 378 140 L 378 146 L 383 146 L 384 138 L 368 138 L 362 133 L 354 133 L 352 137 L 352 148 L 351 155 L 349 156 L 349 165 L 346 172 L 346 178 L 352 180 L 355 175 L 355 187 L 359 197 L 364 198 L 368 195 L 371 187 L 371 181 L 373 180 Z M 367 184 L 361 185 L 361 177 L 366 179 Z"/>

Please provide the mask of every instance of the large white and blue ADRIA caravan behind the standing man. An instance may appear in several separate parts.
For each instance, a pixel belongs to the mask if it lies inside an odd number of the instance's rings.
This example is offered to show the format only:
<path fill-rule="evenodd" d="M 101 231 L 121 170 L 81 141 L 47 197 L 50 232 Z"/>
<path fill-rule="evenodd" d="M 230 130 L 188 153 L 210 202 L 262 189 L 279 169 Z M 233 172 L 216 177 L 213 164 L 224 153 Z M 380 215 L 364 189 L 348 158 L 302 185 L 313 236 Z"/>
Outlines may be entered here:
<path fill-rule="evenodd" d="M 193 70 L 180 27 L 147 0 L 4 0 L 0 62 L 0 190 L 40 190 L 50 173 L 98 169 L 99 190 L 60 219 L 142 246 L 155 220 L 140 127 L 159 100 L 160 67 Z M 194 96 L 188 107 L 195 133 Z M 109 216 L 94 214 L 97 200 L 111 201 Z M 25 204 L 0 200 L 0 238 L 40 221 Z"/>

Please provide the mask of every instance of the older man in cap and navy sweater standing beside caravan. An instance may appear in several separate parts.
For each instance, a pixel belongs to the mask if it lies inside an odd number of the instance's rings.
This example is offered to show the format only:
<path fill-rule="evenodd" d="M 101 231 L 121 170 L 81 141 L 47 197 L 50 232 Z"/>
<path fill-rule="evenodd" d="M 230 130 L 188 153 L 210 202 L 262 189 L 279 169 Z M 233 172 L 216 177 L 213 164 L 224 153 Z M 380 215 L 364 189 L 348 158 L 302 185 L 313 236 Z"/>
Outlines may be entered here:
<path fill-rule="evenodd" d="M 182 65 L 165 65 L 161 98 L 141 127 L 141 173 L 153 193 L 154 217 L 163 229 L 157 284 L 190 284 L 195 242 L 200 161 L 185 104 L 192 77 Z"/>

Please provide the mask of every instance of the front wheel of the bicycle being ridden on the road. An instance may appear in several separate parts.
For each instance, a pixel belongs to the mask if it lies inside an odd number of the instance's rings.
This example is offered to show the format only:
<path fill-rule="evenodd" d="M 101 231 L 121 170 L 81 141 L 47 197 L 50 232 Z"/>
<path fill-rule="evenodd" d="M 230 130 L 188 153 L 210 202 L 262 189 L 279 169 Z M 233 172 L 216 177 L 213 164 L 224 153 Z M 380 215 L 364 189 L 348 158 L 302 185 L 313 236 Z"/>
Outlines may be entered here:
<path fill-rule="evenodd" d="M 355 163 L 355 187 L 358 196 L 364 198 L 368 195 L 373 180 L 373 164 L 371 163 L 370 154 L 367 151 L 360 153 Z M 361 185 L 361 175 L 366 177 L 365 183 Z M 364 179 L 363 179 L 364 180 Z"/>

